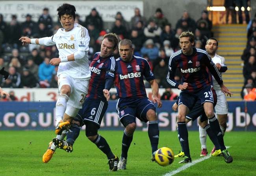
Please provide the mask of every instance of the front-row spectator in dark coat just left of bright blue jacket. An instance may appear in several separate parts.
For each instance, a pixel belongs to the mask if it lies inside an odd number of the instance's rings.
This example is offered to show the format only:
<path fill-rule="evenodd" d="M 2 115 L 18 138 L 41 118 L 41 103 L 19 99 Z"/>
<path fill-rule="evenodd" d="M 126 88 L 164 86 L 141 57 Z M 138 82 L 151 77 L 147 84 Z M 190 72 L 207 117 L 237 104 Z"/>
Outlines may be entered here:
<path fill-rule="evenodd" d="M 29 68 L 24 67 L 22 74 L 20 76 L 20 85 L 19 88 L 34 88 L 39 87 L 39 83 L 37 82 L 37 78 L 30 73 Z"/>

